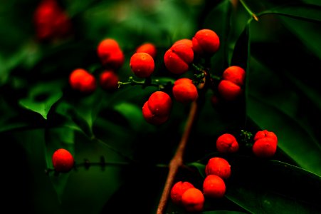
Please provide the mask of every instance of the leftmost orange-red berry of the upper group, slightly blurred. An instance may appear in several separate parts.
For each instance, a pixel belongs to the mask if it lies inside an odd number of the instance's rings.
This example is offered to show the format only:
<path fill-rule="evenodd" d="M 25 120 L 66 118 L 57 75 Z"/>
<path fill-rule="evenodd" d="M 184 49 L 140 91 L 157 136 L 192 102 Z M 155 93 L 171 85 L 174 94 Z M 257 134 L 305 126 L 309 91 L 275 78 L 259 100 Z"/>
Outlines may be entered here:
<path fill-rule="evenodd" d="M 81 93 L 93 93 L 97 88 L 95 76 L 83 68 L 76 68 L 69 76 L 70 87 Z"/>

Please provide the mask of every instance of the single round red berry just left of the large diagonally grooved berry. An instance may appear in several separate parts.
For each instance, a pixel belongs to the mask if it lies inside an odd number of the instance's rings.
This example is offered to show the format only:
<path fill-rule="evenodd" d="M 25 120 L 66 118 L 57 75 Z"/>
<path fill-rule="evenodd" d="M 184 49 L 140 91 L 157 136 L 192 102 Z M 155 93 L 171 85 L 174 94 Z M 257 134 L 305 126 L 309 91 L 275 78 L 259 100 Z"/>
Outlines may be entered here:
<path fill-rule="evenodd" d="M 154 72 L 154 58 L 147 53 L 135 53 L 130 58 L 130 68 L 135 76 L 147 78 Z"/>

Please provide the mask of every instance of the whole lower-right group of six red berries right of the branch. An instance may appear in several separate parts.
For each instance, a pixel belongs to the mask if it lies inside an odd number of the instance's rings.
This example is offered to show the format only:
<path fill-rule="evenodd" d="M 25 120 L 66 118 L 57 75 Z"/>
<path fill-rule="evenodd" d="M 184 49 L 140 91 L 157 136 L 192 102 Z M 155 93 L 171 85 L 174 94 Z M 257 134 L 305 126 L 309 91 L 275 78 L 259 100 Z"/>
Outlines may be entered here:
<path fill-rule="evenodd" d="M 258 131 L 253 138 L 252 151 L 256 157 L 272 157 L 278 146 L 278 138 L 272 131 Z M 219 153 L 236 153 L 238 141 L 230 133 L 224 133 L 216 140 Z M 188 212 L 201 212 L 206 198 L 223 198 L 226 180 L 231 177 L 231 165 L 225 158 L 213 157 L 206 163 L 203 185 L 196 188 L 188 181 L 179 180 L 172 186 L 172 203 L 182 206 Z"/>

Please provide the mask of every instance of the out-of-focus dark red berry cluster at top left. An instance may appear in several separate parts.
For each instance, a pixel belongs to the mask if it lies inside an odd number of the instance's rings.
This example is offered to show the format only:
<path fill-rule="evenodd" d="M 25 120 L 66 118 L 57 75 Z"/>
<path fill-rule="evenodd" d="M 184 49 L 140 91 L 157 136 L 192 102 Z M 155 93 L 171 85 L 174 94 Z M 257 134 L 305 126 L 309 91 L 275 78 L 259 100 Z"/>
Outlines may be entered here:
<path fill-rule="evenodd" d="M 63 39 L 71 33 L 68 14 L 56 0 L 42 0 L 33 14 L 36 37 L 41 41 Z"/>

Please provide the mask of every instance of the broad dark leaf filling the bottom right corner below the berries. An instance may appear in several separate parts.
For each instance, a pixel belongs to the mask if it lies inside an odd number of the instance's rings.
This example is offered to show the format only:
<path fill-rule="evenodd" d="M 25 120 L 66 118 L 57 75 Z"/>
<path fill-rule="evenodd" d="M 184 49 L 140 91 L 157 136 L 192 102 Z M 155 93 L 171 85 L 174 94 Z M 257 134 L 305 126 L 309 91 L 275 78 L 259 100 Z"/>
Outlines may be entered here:
<path fill-rule="evenodd" d="M 280 161 L 231 158 L 226 198 L 250 213 L 320 213 L 321 178 Z"/>

